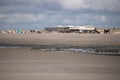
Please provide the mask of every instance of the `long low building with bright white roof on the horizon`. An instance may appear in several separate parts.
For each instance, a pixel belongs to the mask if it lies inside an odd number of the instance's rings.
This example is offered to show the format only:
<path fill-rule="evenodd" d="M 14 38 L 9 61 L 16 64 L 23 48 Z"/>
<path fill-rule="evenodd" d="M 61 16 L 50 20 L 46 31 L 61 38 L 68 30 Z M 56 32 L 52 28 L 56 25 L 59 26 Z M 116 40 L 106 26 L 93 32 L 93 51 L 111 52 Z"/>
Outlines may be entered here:
<path fill-rule="evenodd" d="M 61 32 L 61 33 L 110 33 L 110 29 L 96 28 L 91 25 L 87 26 L 57 26 L 57 27 L 46 27 L 47 32 Z"/>

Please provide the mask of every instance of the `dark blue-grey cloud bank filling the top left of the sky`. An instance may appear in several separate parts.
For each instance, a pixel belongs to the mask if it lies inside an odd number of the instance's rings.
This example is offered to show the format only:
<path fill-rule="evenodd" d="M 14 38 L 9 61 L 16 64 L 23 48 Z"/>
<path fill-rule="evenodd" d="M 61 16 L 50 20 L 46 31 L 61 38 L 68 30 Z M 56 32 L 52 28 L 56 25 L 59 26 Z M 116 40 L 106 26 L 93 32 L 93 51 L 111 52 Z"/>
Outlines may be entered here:
<path fill-rule="evenodd" d="M 0 13 L 52 13 L 60 11 L 55 0 L 2 0 Z"/>

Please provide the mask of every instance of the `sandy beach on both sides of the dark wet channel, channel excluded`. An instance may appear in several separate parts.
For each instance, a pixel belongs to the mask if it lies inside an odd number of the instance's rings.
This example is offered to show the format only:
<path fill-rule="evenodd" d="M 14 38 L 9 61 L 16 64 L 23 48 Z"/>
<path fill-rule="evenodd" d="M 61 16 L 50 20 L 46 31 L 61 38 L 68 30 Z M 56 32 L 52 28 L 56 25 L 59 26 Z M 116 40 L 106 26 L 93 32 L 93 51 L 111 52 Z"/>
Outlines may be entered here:
<path fill-rule="evenodd" d="M 3 44 L 120 46 L 119 34 L 0 34 Z M 48 47 L 49 48 L 49 47 Z M 0 48 L 0 80 L 120 80 L 120 56 Z"/>

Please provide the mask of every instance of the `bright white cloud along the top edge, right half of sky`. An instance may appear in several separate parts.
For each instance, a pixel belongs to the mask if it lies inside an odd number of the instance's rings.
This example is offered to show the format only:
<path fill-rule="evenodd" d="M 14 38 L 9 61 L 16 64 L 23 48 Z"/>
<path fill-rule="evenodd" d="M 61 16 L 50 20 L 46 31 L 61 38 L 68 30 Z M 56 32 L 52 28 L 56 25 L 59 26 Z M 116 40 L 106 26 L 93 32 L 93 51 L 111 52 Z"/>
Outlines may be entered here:
<path fill-rule="evenodd" d="M 120 11 L 120 0 L 60 0 L 61 7 L 68 10 Z"/>

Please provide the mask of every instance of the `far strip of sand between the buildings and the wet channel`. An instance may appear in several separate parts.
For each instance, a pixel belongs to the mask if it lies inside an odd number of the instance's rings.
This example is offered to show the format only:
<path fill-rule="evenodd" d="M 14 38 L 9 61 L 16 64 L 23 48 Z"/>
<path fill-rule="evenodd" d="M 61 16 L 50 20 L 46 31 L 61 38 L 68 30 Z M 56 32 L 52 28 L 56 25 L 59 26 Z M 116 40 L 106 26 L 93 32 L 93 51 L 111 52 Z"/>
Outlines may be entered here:
<path fill-rule="evenodd" d="M 0 43 L 12 44 L 67 44 L 74 46 L 120 46 L 120 34 L 0 34 Z"/>

